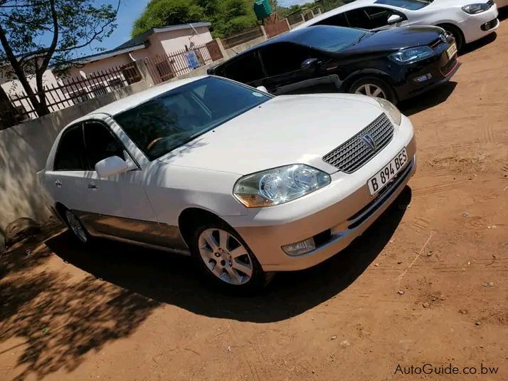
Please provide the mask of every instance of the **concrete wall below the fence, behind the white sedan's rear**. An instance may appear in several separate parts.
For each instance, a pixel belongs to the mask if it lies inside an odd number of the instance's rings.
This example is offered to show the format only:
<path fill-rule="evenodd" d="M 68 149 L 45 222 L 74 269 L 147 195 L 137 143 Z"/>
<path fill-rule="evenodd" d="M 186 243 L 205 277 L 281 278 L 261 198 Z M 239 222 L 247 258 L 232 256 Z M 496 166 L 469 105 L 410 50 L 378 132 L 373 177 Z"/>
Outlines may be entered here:
<path fill-rule="evenodd" d="M 134 83 L 79 105 L 0 131 L 0 230 L 19 217 L 44 221 L 49 211 L 37 183 L 36 173 L 46 158 L 58 132 L 76 118 L 97 108 L 148 88 Z"/>

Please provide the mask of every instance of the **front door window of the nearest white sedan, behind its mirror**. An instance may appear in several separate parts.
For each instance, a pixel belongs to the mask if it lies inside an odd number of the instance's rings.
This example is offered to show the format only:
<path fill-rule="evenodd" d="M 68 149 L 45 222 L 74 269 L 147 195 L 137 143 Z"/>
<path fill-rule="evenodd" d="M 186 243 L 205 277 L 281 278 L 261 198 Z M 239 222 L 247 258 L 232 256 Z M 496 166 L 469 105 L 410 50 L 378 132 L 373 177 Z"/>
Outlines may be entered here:
<path fill-rule="evenodd" d="M 85 148 L 88 157 L 89 170 L 95 170 L 95 165 L 106 157 L 124 157 L 124 147 L 113 135 L 108 127 L 100 122 L 85 122 Z"/>

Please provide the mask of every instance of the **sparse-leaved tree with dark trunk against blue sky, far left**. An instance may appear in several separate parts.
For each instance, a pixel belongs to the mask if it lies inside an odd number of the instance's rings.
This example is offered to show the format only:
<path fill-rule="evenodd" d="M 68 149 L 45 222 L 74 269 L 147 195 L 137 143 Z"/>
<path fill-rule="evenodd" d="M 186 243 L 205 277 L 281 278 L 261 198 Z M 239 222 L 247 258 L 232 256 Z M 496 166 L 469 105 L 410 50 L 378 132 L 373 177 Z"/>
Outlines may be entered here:
<path fill-rule="evenodd" d="M 9 61 L 39 116 L 49 113 L 43 85 L 49 64 L 62 68 L 76 49 L 110 36 L 121 0 L 112 1 L 0 0 L 0 61 Z"/>

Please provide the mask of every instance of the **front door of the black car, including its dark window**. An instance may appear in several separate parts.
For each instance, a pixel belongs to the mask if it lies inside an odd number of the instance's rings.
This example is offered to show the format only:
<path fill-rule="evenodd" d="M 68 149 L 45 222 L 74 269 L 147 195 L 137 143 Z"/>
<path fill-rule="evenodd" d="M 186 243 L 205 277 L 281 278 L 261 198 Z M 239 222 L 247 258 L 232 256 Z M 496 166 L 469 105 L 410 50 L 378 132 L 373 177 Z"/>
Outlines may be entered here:
<path fill-rule="evenodd" d="M 309 93 L 317 87 L 332 87 L 324 73 L 324 53 L 295 43 L 272 43 L 260 48 L 260 58 L 266 72 L 263 85 L 275 95 Z M 303 64 L 308 63 L 307 68 Z M 336 90 L 336 89 L 335 89 Z"/>

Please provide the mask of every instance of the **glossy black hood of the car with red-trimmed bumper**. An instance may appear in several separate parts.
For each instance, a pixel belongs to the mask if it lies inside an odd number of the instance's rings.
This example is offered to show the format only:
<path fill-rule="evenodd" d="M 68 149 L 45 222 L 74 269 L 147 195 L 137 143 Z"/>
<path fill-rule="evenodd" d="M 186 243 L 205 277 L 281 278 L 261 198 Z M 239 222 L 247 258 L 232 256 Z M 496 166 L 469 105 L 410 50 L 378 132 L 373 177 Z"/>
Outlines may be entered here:
<path fill-rule="evenodd" d="M 365 36 L 358 44 L 341 53 L 351 51 L 398 51 L 412 46 L 425 46 L 433 43 L 441 33 L 443 33 L 443 29 L 438 26 L 406 26 L 387 29 L 376 32 L 371 36 Z"/>

